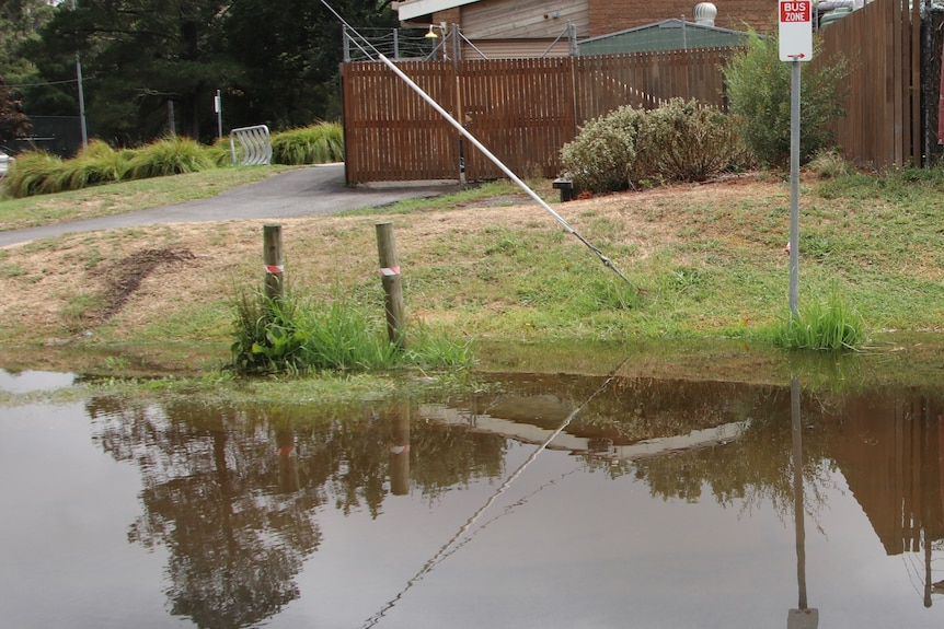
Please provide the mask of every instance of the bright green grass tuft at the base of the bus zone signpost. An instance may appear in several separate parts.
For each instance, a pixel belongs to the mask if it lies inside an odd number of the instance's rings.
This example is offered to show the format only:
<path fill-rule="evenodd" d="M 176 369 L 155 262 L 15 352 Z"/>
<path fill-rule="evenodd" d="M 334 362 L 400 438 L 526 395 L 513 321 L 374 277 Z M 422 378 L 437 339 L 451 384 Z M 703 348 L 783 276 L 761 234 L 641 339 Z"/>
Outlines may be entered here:
<path fill-rule="evenodd" d="M 833 287 L 829 296 L 791 313 L 774 328 L 774 345 L 786 349 L 854 350 L 865 342 L 862 315 L 845 304 Z"/>

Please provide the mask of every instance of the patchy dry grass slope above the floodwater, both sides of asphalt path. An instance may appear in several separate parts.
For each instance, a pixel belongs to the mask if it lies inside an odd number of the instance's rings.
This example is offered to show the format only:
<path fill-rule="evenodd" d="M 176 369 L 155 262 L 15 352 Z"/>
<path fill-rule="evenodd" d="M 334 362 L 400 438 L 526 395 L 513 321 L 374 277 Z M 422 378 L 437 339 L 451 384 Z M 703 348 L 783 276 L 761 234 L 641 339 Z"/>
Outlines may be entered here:
<path fill-rule="evenodd" d="M 147 200 L 133 182 L 2 201 L 0 225 L 162 205 L 186 198 L 181 190 L 221 189 L 238 173 L 264 170 L 148 180 L 156 188 Z M 549 182 L 536 187 L 554 199 Z M 806 177 L 801 305 L 838 290 L 873 334 L 939 330 L 942 189 L 939 170 Z M 510 185 L 492 184 L 284 221 L 287 279 L 298 293 L 379 311 L 373 225 L 392 220 L 407 316 L 456 338 L 763 341 L 786 314 L 788 205 L 788 186 L 769 175 L 555 203 L 625 283 Z M 262 279 L 262 223 L 136 228 L 0 249 L 0 343 L 134 343 L 154 348 L 158 362 L 174 362 L 170 352 L 191 369 L 218 364 L 232 340 L 234 295 Z M 115 301 L 142 252 L 164 255 Z"/>

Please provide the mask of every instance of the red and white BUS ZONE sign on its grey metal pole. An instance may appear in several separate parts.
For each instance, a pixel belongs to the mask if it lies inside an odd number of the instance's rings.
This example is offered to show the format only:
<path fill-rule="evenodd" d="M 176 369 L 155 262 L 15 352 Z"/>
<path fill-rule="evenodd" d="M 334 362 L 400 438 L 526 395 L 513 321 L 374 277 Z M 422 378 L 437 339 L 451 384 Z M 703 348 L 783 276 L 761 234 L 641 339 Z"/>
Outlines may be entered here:
<path fill-rule="evenodd" d="M 790 74 L 790 312 L 799 296 L 799 65 L 813 59 L 813 0 L 780 1 L 780 60 Z"/>

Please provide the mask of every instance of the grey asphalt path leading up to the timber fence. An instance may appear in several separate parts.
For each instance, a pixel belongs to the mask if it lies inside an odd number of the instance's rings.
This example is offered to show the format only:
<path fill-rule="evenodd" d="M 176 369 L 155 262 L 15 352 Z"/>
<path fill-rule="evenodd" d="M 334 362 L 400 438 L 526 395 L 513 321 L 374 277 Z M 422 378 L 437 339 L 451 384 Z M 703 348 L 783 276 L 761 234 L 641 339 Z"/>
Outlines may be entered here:
<path fill-rule="evenodd" d="M 279 173 L 208 199 L 97 219 L 0 231 L 0 247 L 64 234 L 139 225 L 326 217 L 389 206 L 403 199 L 437 197 L 458 189 L 457 184 L 347 186 L 344 164 L 322 164 Z"/>

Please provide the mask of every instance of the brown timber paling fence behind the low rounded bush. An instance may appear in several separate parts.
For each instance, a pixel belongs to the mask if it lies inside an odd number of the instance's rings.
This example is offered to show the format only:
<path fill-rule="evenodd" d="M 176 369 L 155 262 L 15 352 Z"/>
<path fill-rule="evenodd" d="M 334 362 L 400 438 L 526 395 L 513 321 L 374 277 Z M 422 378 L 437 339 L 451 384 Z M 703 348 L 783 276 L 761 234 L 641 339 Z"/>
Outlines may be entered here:
<path fill-rule="evenodd" d="M 678 96 L 724 106 L 721 68 L 732 54 L 704 48 L 398 67 L 514 172 L 553 177 L 561 147 L 579 126 L 620 105 L 652 108 Z M 345 63 L 343 86 L 349 184 L 458 179 L 462 166 L 470 182 L 503 176 L 383 63 Z"/>

